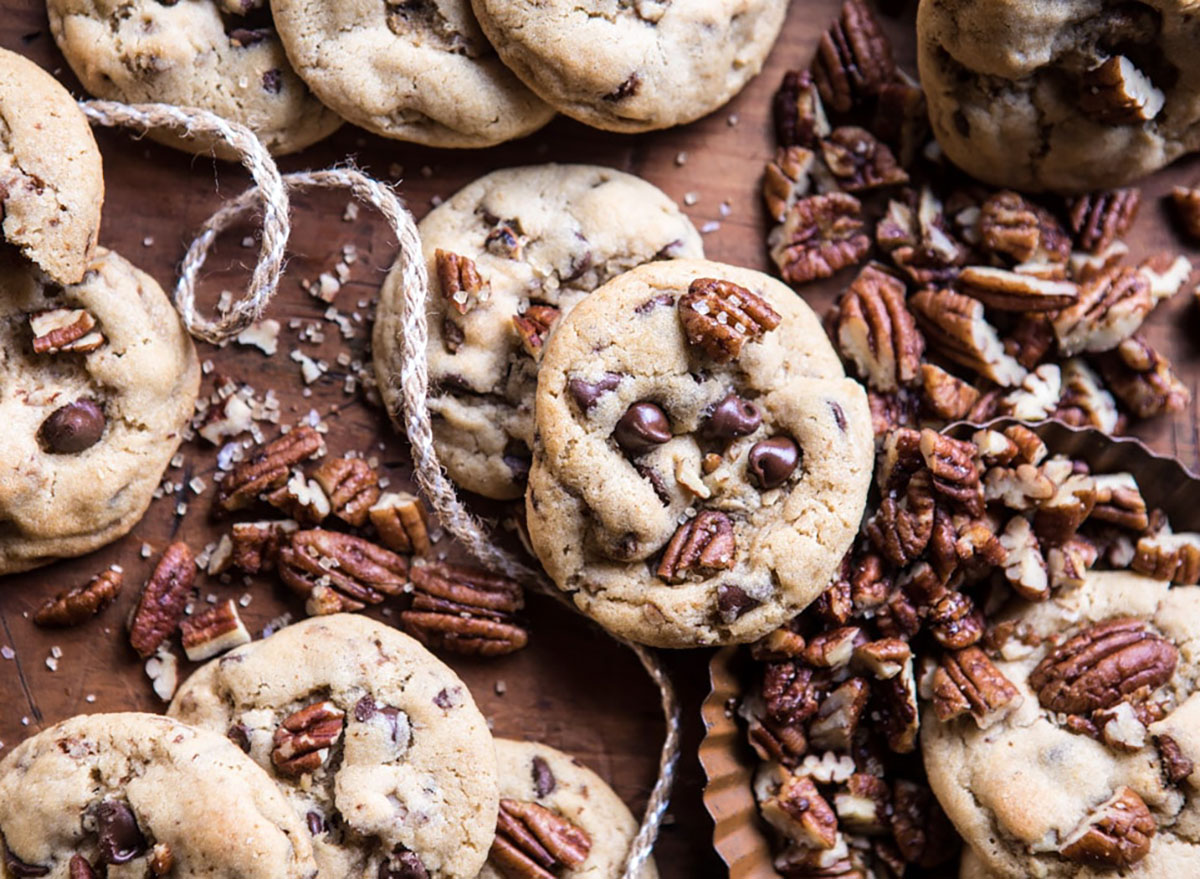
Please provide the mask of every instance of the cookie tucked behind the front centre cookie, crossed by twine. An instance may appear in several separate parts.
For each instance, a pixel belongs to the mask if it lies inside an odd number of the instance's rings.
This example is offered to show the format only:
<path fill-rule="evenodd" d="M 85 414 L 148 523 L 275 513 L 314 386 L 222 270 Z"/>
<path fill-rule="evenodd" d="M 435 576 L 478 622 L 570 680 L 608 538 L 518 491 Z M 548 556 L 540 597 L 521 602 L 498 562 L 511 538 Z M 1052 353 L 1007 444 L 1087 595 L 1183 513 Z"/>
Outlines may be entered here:
<path fill-rule="evenodd" d="M 428 264 L 430 409 L 450 477 L 521 497 L 538 363 L 556 321 L 587 293 L 652 259 L 702 257 L 700 234 L 660 190 L 590 165 L 497 171 L 420 225 Z M 376 375 L 400 402 L 400 271 L 376 318 Z"/>

